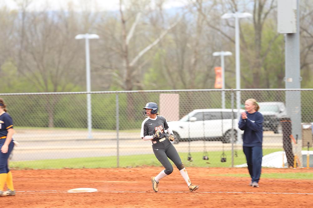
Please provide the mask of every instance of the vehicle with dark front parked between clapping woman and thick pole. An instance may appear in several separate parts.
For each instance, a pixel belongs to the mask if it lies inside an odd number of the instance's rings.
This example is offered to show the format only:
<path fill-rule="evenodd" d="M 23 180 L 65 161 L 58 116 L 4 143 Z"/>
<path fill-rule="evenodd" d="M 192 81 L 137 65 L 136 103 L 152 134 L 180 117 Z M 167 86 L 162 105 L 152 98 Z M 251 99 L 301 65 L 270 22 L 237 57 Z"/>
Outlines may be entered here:
<path fill-rule="evenodd" d="M 259 112 L 264 117 L 263 129 L 281 132 L 280 118 L 287 116 L 285 104 L 283 102 L 259 102 Z"/>

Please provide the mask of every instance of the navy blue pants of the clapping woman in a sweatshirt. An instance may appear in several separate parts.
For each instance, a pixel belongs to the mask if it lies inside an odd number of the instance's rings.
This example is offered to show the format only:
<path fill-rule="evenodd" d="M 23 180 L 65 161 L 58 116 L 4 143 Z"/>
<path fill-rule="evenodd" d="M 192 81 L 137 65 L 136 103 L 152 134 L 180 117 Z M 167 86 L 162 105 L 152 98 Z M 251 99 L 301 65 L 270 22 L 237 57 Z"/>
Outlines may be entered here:
<path fill-rule="evenodd" d="M 252 182 L 259 182 L 262 167 L 262 147 L 243 147 Z"/>

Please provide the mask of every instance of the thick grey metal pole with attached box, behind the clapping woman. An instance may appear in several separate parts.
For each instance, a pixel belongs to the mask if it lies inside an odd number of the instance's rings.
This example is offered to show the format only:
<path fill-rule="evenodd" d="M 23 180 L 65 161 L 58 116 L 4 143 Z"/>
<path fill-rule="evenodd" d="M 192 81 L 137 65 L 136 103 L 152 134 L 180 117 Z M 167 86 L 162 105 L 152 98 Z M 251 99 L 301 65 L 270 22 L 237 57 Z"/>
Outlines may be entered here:
<path fill-rule="evenodd" d="M 300 64 L 300 0 L 277 0 L 277 29 L 285 34 L 285 88 L 301 89 Z M 286 91 L 287 115 L 292 122 L 292 135 L 298 137 L 294 153 L 297 154 L 300 167 L 302 161 L 301 92 Z"/>

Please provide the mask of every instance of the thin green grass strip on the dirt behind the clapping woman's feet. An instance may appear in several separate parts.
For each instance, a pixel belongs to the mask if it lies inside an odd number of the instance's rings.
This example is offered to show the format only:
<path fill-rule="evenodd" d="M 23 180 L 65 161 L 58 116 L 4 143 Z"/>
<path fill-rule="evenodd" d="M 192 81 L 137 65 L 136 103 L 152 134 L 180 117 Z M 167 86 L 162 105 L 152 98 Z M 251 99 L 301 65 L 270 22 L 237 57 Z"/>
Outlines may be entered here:
<path fill-rule="evenodd" d="M 250 177 L 249 174 L 212 174 L 209 176 Z M 297 173 L 262 173 L 261 178 L 308 179 L 313 180 L 313 172 Z"/>

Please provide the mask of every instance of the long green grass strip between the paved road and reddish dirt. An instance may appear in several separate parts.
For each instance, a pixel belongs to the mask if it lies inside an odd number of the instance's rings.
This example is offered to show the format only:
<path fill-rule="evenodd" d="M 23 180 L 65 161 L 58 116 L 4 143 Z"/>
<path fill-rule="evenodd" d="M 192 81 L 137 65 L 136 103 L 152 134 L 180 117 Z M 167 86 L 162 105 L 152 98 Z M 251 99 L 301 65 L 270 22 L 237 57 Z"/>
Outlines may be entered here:
<path fill-rule="evenodd" d="M 281 149 L 265 149 L 264 155 Z M 185 166 L 189 167 L 231 167 L 231 151 L 225 151 L 227 162 L 221 162 L 221 151 L 208 152 L 209 160 L 203 160 L 203 152 L 191 152 L 192 162 L 187 160 L 188 153 L 179 155 Z M 209 163 L 208 163 L 209 162 Z M 242 150 L 238 150 L 238 157 L 234 157 L 234 165 L 246 162 Z M 173 164 L 173 163 L 172 163 Z M 154 154 L 120 156 L 119 167 L 161 166 Z M 60 168 L 111 168 L 117 167 L 117 157 L 82 157 L 70 159 L 11 161 L 10 167 L 14 169 L 60 169 Z"/>

